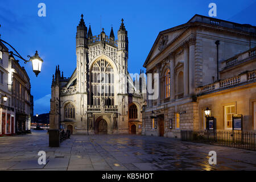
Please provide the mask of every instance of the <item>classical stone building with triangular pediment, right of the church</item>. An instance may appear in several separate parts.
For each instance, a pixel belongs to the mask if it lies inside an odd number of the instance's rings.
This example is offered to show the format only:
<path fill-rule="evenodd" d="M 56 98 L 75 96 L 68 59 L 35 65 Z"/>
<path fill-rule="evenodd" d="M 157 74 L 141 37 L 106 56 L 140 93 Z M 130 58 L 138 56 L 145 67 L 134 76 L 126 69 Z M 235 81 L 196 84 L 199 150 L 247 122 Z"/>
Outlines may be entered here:
<path fill-rule="evenodd" d="M 217 130 L 231 130 L 232 115 L 242 114 L 243 130 L 255 131 L 255 46 L 256 27 L 201 15 L 159 32 L 143 66 L 159 74 L 160 94 L 147 99 L 142 134 L 203 130 L 206 107 Z"/>

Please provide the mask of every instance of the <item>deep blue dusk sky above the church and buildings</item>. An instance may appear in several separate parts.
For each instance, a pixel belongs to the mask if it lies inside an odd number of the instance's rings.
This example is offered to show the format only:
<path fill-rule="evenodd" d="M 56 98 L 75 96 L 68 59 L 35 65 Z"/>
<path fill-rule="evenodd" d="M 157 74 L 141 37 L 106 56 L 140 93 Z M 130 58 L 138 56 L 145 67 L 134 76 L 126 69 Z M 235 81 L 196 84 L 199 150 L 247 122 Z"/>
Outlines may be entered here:
<path fill-rule="evenodd" d="M 46 4 L 46 17 L 38 16 L 38 4 Z M 38 50 L 44 60 L 38 77 L 32 65 L 23 64 L 31 79 L 34 113 L 49 112 L 52 74 L 60 65 L 64 77 L 76 68 L 76 26 L 84 14 L 85 24 L 93 35 L 105 28 L 110 34 L 113 25 L 115 38 L 124 19 L 129 36 L 130 73 L 137 73 L 150 51 L 159 31 L 186 23 L 195 14 L 208 16 L 208 5 L 217 4 L 217 18 L 256 26 L 256 1 L 48 1 L 1 0 L 0 34 L 23 56 Z"/>

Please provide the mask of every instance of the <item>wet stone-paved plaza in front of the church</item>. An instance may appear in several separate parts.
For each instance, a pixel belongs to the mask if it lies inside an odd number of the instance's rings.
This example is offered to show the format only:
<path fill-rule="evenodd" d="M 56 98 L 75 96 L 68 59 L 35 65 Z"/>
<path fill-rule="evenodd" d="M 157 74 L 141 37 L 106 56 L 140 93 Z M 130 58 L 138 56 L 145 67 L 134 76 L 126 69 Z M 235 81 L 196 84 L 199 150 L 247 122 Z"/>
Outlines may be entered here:
<path fill-rule="evenodd" d="M 38 151 L 46 164 L 38 164 Z M 209 151 L 217 164 L 208 163 Z M 46 131 L 0 137 L 0 170 L 256 170 L 256 151 L 138 135 L 72 135 L 48 147 Z"/>

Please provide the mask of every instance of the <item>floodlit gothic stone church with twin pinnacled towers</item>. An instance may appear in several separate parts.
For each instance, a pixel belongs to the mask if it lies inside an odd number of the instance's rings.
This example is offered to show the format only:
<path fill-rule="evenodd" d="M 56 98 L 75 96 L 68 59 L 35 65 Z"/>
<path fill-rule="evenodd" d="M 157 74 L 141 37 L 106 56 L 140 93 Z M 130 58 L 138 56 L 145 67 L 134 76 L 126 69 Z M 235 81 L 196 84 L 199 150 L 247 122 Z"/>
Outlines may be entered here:
<path fill-rule="evenodd" d="M 123 23 L 115 40 L 104 28 L 98 36 L 85 26 L 76 32 L 76 69 L 71 77 L 52 78 L 50 129 L 80 134 L 141 134 L 144 77 L 127 72 L 128 37 Z M 139 85 L 139 86 L 135 86 Z"/>

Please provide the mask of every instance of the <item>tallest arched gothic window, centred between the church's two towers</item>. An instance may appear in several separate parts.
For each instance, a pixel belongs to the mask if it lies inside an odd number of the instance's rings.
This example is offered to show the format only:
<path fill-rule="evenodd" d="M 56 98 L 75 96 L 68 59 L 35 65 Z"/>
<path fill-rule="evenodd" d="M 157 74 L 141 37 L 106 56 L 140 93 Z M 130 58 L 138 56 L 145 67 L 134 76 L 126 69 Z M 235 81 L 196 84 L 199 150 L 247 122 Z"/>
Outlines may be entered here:
<path fill-rule="evenodd" d="M 91 105 L 114 105 L 114 70 L 112 65 L 100 59 L 93 63 L 90 71 Z"/>

